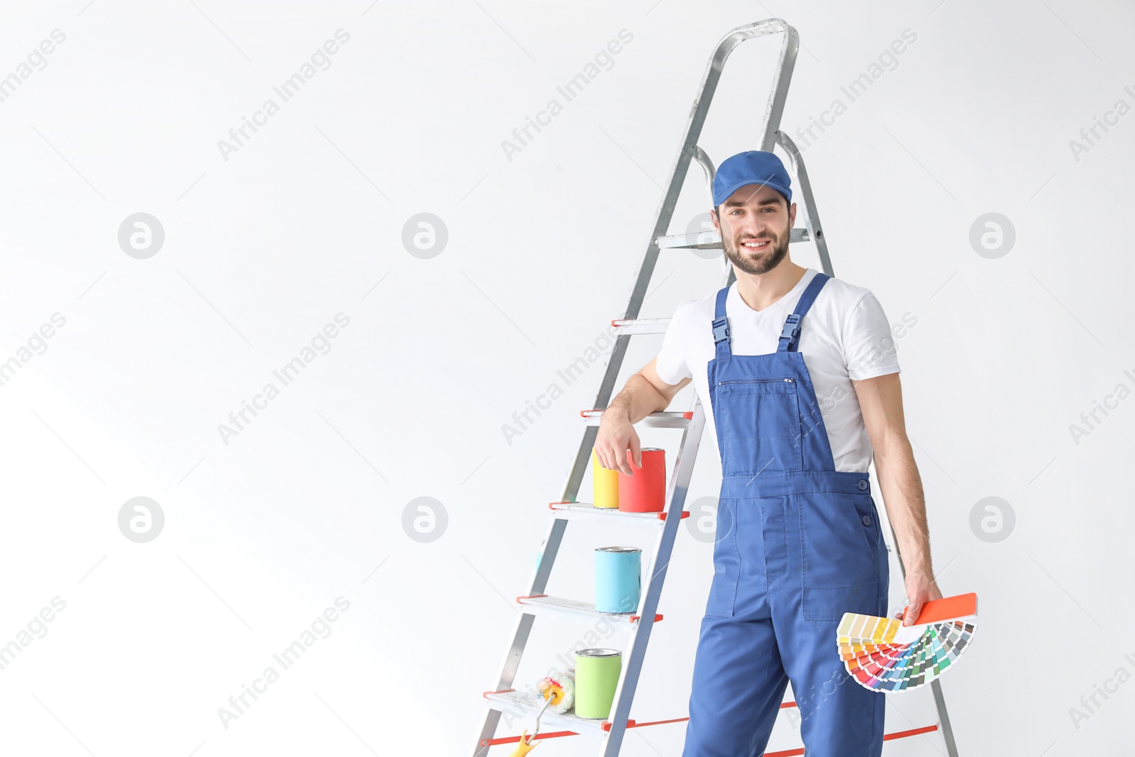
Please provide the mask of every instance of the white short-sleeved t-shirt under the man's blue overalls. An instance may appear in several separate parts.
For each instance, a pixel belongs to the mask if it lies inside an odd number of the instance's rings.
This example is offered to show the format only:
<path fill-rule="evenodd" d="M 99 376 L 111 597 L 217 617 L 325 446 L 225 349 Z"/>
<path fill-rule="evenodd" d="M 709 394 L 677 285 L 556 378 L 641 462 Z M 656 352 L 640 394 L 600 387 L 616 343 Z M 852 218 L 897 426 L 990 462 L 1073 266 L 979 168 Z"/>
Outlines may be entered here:
<path fill-rule="evenodd" d="M 764 310 L 749 308 L 734 281 L 725 297 L 732 353 L 763 355 L 776 352 L 784 320 L 793 312 L 816 272 L 807 269 L 791 292 Z M 715 355 L 712 325 L 716 301 L 717 292 L 714 291 L 678 306 L 666 327 L 655 364 L 658 378 L 666 384 L 693 377 L 693 388 L 701 399 L 709 430 L 706 439 L 712 439 L 713 444 L 717 444 L 717 428 L 709 403 L 707 364 Z M 797 350 L 804 355 L 804 364 L 816 389 L 835 470 L 866 473 L 872 460 L 871 438 L 851 380 L 899 372 L 894 338 L 883 306 L 869 289 L 838 278 L 829 279 L 800 321 Z"/>

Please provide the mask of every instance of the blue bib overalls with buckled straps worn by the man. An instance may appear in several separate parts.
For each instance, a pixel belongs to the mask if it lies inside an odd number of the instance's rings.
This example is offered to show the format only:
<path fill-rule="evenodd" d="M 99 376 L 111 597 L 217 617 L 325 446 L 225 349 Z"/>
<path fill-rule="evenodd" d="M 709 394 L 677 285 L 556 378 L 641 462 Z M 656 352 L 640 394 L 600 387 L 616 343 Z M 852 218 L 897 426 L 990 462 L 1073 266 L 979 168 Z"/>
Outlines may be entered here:
<path fill-rule="evenodd" d="M 764 355 L 730 352 L 729 287 L 717 293 L 708 370 L 722 482 L 682 757 L 764 754 L 790 680 L 807 757 L 883 749 L 883 695 L 848 675 L 835 629 L 844 612 L 886 614 L 886 544 L 867 473 L 835 470 L 797 351 L 829 278 L 816 274 Z"/>

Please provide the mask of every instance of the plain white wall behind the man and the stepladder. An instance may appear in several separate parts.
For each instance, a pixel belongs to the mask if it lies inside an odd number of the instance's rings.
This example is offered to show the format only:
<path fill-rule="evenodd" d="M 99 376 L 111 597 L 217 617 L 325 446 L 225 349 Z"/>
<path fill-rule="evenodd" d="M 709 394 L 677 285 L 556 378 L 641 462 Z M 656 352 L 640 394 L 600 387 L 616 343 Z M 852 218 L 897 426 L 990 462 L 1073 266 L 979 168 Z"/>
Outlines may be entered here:
<path fill-rule="evenodd" d="M 0 645 L 53 597 L 66 608 L 32 623 L 45 636 L 0 670 L 0 751 L 472 754 L 480 693 L 496 681 L 605 358 L 570 386 L 557 371 L 623 313 L 711 51 L 776 16 L 801 43 L 782 121 L 793 136 L 834 99 L 847 104 L 840 87 L 903 30 L 917 34 L 805 160 L 835 275 L 871 288 L 891 322 L 917 319 L 897 348 L 934 565 L 947 594 L 981 600 L 977 639 L 942 679 L 960 754 L 1117 754 L 1135 701 L 1135 401 L 1099 415 L 1079 444 L 1069 424 L 1117 385 L 1135 388 L 1135 115 L 1079 160 L 1069 141 L 1117 100 L 1135 106 L 1124 91 L 1135 90 L 1135 10 L 368 5 L 2 11 L 0 76 L 52 30 L 66 41 L 0 102 L 0 361 L 53 313 L 66 325 L 0 386 Z M 330 67 L 226 160 L 218 142 L 339 28 L 350 41 Z M 609 70 L 510 160 L 502 141 L 624 28 L 633 41 Z M 758 146 L 777 44 L 730 59 L 700 142 L 715 162 Z M 671 232 L 706 204 L 695 167 Z M 166 235 L 144 260 L 117 238 L 135 212 Z M 420 212 L 448 230 L 430 259 L 402 243 Z M 987 212 L 1016 229 L 999 259 L 969 244 Z M 808 245 L 792 256 L 818 267 Z M 642 317 L 669 317 L 720 286 L 720 271 L 665 253 Z M 218 426 L 340 312 L 350 325 L 330 351 L 288 386 L 275 381 L 279 396 L 226 444 Z M 632 339 L 619 387 L 653 339 Z M 510 444 L 502 427 L 554 382 L 564 395 Z M 689 402 L 687 389 L 672 409 Z M 678 435 L 644 439 L 672 462 Z M 712 502 L 718 474 L 704 439 L 691 503 Z M 136 496 L 165 513 L 146 544 L 118 528 Z M 403 525 L 422 496 L 447 520 L 424 544 Z M 1016 513 L 999 542 L 970 529 L 989 496 Z M 590 550 L 634 538 L 572 524 L 548 592 L 589 599 Z M 687 714 L 711 561 L 712 545 L 683 528 L 637 720 Z M 272 655 L 337 597 L 350 608 L 329 636 L 226 727 L 218 709 L 279 671 Z M 893 561 L 891 599 L 893 612 Z M 583 630 L 538 621 L 518 688 Z M 1084 709 L 1120 667 L 1118 691 Z M 889 697 L 888 731 L 933 723 L 927 700 Z M 1073 707 L 1090 717 L 1074 722 Z M 634 730 L 623 754 L 678 756 L 683 733 Z M 773 748 L 793 746 L 780 727 Z M 916 737 L 884 754 L 941 750 Z M 540 748 L 592 752 L 586 737 Z"/>

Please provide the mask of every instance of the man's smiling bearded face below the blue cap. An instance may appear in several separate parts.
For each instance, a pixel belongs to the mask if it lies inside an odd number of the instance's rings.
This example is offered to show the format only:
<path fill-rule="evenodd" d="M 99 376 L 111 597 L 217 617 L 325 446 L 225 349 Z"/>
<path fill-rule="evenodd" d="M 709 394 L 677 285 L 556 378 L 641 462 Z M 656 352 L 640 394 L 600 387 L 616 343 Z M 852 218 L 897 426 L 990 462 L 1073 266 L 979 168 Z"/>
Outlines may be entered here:
<path fill-rule="evenodd" d="M 746 274 L 759 276 L 788 256 L 789 232 L 796 222 L 796 205 L 763 184 L 739 187 L 714 213 L 725 254 Z"/>

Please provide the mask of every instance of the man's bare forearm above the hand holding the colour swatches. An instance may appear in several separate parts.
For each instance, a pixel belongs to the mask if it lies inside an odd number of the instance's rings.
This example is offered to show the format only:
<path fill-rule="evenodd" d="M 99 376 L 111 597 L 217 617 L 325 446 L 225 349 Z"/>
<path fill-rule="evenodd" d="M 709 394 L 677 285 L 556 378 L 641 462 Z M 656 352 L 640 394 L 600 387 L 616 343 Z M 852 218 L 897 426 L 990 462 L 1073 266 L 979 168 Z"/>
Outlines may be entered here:
<path fill-rule="evenodd" d="M 896 435 L 875 451 L 875 471 L 883 490 L 886 516 L 894 527 L 899 554 L 907 572 L 932 574 L 930 530 L 926 525 L 926 499 L 915 464 L 910 440 Z"/>

